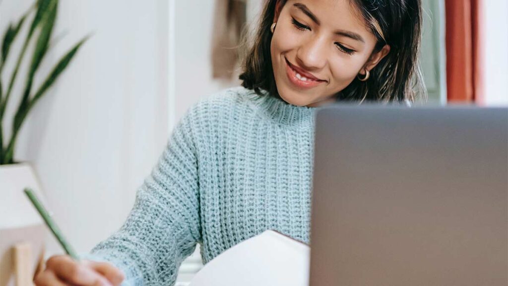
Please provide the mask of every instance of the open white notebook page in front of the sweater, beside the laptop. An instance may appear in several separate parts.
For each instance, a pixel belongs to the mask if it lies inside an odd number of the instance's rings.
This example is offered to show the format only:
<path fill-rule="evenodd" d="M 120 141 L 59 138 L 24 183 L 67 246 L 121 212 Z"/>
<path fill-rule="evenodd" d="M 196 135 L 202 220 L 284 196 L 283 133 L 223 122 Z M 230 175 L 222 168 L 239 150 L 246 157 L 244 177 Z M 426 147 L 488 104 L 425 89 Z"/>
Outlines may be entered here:
<path fill-rule="evenodd" d="M 268 230 L 217 255 L 189 286 L 308 286 L 309 259 L 307 244 Z"/>

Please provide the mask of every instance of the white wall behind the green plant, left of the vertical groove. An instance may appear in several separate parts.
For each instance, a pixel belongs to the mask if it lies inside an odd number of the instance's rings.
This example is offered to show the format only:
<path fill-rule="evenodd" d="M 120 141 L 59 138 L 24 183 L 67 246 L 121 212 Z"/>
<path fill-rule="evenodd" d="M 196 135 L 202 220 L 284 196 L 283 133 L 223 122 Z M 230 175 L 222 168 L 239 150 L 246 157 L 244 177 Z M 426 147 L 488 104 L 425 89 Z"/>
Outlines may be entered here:
<path fill-rule="evenodd" d="M 0 27 L 31 3 L 3 0 Z M 16 158 L 34 164 L 55 219 L 80 252 L 121 225 L 166 144 L 168 11 L 166 0 L 60 1 L 55 37 L 63 38 L 43 71 L 93 36 L 29 116 Z M 49 252 L 61 252 L 49 240 Z"/>

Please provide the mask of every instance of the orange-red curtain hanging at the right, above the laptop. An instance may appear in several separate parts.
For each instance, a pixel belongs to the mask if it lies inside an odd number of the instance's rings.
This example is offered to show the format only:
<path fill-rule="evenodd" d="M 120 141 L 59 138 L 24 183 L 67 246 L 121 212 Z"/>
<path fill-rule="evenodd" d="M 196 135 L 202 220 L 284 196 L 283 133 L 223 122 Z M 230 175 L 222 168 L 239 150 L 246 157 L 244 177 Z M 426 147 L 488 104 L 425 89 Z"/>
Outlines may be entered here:
<path fill-rule="evenodd" d="M 482 0 L 445 0 L 449 102 L 482 103 Z"/>

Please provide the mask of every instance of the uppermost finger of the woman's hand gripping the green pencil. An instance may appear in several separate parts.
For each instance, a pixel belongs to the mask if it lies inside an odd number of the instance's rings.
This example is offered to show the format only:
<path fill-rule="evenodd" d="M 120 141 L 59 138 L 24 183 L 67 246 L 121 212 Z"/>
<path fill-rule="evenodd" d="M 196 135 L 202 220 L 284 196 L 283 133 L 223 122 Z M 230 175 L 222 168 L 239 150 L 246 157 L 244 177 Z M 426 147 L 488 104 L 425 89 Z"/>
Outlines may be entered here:
<path fill-rule="evenodd" d="M 67 255 L 53 256 L 46 263 L 47 270 L 65 282 L 79 286 L 111 286 L 101 274 L 74 261 Z"/>

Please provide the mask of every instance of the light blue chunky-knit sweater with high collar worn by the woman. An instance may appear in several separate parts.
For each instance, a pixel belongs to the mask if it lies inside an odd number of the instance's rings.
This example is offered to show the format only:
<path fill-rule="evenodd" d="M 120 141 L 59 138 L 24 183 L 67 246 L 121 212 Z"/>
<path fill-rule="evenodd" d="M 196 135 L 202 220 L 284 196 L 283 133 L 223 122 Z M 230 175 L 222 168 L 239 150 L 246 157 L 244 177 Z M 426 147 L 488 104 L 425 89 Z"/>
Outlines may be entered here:
<path fill-rule="evenodd" d="M 200 101 L 89 258 L 122 269 L 124 284 L 173 285 L 197 243 L 205 264 L 268 229 L 309 243 L 314 111 L 244 88 Z"/>

